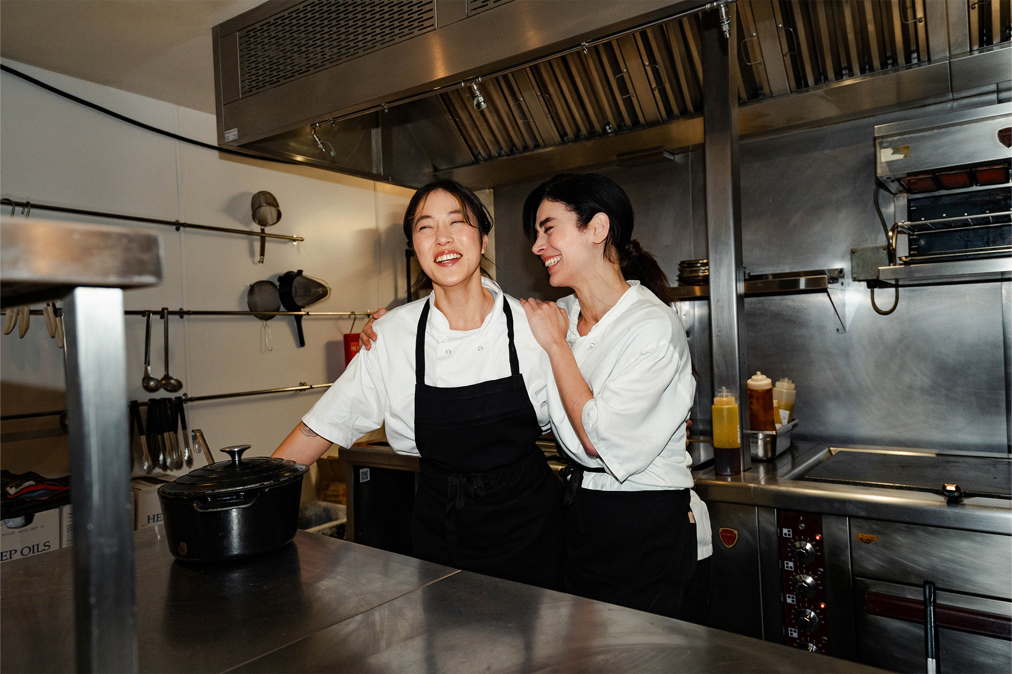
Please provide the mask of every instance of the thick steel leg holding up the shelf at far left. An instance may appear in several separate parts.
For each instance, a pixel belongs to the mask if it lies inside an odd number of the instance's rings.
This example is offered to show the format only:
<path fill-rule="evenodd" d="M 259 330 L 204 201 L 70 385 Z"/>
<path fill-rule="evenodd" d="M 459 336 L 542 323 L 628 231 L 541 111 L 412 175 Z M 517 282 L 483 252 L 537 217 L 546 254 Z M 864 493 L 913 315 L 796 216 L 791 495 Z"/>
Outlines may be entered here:
<path fill-rule="evenodd" d="M 136 672 L 123 291 L 64 299 L 79 672 Z"/>

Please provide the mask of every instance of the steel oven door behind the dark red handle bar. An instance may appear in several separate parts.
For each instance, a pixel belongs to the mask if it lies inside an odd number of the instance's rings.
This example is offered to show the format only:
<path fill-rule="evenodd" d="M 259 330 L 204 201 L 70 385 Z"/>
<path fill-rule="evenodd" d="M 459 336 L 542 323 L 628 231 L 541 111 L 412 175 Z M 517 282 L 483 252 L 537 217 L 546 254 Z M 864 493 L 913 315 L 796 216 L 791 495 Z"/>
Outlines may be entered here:
<path fill-rule="evenodd" d="M 859 642 L 857 661 L 894 672 L 923 671 L 924 625 L 866 612 L 864 593 L 868 591 L 910 599 L 923 597 L 920 587 L 855 579 L 854 605 Z M 936 593 L 936 601 L 949 606 L 1012 615 L 1012 609 L 1005 601 L 949 592 Z M 942 672 L 1007 672 L 1012 666 L 1012 643 L 1005 640 L 940 628 L 938 642 L 939 670 Z"/>

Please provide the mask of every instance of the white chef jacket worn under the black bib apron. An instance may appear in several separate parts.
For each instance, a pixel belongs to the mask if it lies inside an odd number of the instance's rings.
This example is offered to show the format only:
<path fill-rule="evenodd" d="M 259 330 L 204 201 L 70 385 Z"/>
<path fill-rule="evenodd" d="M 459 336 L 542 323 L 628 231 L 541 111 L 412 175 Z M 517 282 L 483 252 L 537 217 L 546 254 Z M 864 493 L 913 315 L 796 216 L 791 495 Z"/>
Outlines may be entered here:
<path fill-rule="evenodd" d="M 425 333 L 425 384 L 462 387 L 510 375 L 509 338 L 502 303 L 513 310 L 514 343 L 527 395 L 542 430 L 549 428 L 547 354 L 537 344 L 520 303 L 482 278 L 495 306 L 476 330 L 450 330 L 433 303 Z M 428 298 L 398 307 L 373 324 L 378 339 L 362 349 L 325 393 L 303 423 L 342 447 L 387 424 L 394 451 L 418 456 L 415 446 L 415 334 Z"/>

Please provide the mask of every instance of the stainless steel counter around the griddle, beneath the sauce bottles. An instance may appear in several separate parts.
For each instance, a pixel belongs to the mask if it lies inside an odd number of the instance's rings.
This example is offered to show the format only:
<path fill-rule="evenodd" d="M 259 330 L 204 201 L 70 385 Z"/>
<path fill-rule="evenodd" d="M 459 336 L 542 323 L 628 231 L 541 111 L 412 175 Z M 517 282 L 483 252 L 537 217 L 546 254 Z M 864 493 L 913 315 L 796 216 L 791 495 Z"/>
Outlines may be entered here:
<path fill-rule="evenodd" d="M 799 479 L 825 459 L 829 452 L 830 445 L 826 443 L 796 443 L 774 460 L 754 461 L 752 470 L 742 475 L 720 476 L 709 468 L 693 473 L 695 491 L 707 502 L 1012 535 L 1012 502 L 1008 500 L 969 498 L 950 505 L 943 496 L 927 492 Z"/>

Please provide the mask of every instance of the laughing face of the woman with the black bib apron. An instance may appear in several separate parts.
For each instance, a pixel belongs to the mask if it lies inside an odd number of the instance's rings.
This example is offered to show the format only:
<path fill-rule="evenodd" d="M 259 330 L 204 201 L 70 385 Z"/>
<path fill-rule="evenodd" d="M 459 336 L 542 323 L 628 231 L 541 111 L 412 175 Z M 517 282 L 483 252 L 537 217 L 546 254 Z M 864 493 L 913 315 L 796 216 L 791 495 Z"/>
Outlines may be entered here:
<path fill-rule="evenodd" d="M 480 265 L 489 238 L 472 224 L 474 220 L 455 196 L 442 189 L 419 205 L 411 241 L 422 270 L 434 284 L 481 283 Z"/>

